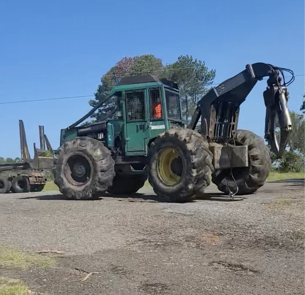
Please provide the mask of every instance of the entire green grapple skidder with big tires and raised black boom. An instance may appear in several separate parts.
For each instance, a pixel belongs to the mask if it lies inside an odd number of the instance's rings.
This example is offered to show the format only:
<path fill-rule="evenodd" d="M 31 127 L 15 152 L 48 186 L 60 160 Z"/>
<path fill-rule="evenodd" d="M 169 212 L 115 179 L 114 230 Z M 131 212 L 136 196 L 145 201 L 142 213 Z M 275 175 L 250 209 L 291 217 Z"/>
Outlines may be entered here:
<path fill-rule="evenodd" d="M 288 82 L 285 71 L 292 76 Z M 264 140 L 238 130 L 237 122 L 241 103 L 264 77 L 265 139 L 280 157 L 291 131 L 287 108 L 287 86 L 294 80 L 291 70 L 248 64 L 202 97 L 187 129 L 175 82 L 132 76 L 122 78 L 109 97 L 61 130 L 60 148 L 54 154 L 55 183 L 72 199 L 135 193 L 147 179 L 157 195 L 171 201 L 193 200 L 210 178 L 225 194 L 254 193 L 263 186 L 271 159 Z M 78 126 L 98 108 L 99 122 Z M 279 140 L 276 127 L 281 129 Z"/>

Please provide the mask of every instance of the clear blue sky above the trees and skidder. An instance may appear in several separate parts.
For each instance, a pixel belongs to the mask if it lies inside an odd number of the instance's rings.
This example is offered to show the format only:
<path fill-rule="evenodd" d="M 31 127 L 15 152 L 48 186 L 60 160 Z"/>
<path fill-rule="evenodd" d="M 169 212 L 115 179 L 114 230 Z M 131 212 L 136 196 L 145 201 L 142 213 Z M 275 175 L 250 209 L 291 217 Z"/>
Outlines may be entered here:
<path fill-rule="evenodd" d="M 216 83 L 255 62 L 304 74 L 303 0 L 1 0 L 0 36 L 0 102 L 93 95 L 118 60 L 141 54 L 164 64 L 193 55 L 216 69 Z M 264 134 L 265 88 L 258 82 L 241 106 L 239 129 Z M 304 76 L 289 92 L 298 111 Z M 88 100 L 0 104 L 0 156 L 20 156 L 19 119 L 32 156 L 38 125 L 58 148 Z"/>

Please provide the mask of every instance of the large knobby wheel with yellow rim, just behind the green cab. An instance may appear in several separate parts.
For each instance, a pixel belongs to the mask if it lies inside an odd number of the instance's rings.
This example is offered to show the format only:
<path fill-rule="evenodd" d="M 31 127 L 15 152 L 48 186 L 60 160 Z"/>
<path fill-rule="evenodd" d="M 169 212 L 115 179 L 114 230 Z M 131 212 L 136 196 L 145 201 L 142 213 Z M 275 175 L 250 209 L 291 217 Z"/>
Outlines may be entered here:
<path fill-rule="evenodd" d="M 175 202 L 194 200 L 210 185 L 214 170 L 209 143 L 194 130 L 169 129 L 151 144 L 147 170 L 157 195 Z"/>

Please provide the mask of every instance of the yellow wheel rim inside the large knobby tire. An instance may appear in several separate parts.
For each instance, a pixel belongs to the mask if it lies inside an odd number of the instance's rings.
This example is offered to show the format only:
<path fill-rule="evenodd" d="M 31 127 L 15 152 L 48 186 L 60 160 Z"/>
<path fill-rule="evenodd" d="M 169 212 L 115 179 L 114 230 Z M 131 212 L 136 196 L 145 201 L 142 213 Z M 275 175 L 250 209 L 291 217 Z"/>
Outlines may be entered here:
<path fill-rule="evenodd" d="M 158 155 L 157 175 L 167 186 L 179 183 L 181 176 L 172 171 L 171 164 L 174 159 L 179 157 L 179 152 L 175 148 L 165 148 Z"/>

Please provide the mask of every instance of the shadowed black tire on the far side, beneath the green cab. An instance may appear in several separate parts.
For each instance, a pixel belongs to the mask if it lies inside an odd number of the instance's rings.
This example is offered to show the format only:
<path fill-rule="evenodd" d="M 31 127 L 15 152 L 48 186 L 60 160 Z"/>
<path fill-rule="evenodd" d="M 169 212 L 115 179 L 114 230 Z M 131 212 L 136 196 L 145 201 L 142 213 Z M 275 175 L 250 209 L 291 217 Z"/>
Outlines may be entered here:
<path fill-rule="evenodd" d="M 114 195 L 133 194 L 144 186 L 146 180 L 147 173 L 137 175 L 116 174 L 108 192 Z"/>

